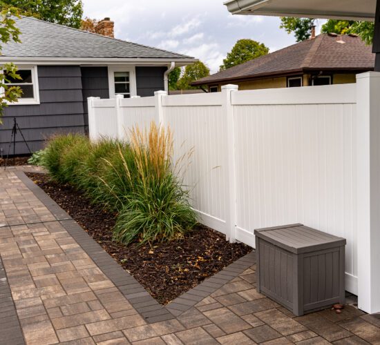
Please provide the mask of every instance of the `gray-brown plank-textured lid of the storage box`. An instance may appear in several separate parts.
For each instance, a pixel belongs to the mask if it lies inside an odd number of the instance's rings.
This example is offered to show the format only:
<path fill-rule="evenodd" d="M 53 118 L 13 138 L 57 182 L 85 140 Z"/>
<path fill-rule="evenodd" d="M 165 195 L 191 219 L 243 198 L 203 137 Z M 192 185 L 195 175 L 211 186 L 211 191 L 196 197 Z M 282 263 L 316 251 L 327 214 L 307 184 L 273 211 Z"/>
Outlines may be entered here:
<path fill-rule="evenodd" d="M 303 224 L 256 229 L 255 235 L 275 246 L 296 254 L 345 245 L 344 238 L 323 233 Z"/>

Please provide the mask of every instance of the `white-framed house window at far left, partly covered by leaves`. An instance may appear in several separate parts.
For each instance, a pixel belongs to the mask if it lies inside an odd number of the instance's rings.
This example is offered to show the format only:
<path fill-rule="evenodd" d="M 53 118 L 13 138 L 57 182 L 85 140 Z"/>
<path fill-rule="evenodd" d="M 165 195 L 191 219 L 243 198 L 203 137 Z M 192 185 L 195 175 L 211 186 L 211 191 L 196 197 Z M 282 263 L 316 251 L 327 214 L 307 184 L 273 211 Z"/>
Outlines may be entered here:
<path fill-rule="evenodd" d="M 22 91 L 17 103 L 10 103 L 10 105 L 39 104 L 37 67 L 19 67 L 17 75 L 20 79 L 6 75 L 7 80 L 4 81 L 7 86 L 18 86 Z"/>

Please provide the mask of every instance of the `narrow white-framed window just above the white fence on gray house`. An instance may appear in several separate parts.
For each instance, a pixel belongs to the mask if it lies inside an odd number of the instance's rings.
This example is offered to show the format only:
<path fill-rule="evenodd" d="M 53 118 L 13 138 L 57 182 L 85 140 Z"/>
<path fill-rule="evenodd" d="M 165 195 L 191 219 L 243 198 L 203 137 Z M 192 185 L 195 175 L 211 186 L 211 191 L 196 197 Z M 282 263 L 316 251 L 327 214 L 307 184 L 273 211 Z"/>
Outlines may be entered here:
<path fill-rule="evenodd" d="M 122 95 L 131 98 L 136 95 L 135 68 L 131 66 L 109 66 L 108 82 L 110 97 Z"/>

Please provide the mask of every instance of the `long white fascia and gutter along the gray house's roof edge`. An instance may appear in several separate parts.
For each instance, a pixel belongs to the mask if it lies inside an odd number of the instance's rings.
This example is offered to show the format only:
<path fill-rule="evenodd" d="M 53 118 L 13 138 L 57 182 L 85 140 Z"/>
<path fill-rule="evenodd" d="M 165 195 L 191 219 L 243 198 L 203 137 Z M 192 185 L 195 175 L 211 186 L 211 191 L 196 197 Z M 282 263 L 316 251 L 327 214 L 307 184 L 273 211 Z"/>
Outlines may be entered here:
<path fill-rule="evenodd" d="M 28 63 L 32 65 L 133 65 L 133 66 L 168 66 L 171 62 L 175 66 L 187 66 L 198 59 L 94 59 L 94 58 L 66 58 L 66 57 L 0 57 L 0 63 Z"/>

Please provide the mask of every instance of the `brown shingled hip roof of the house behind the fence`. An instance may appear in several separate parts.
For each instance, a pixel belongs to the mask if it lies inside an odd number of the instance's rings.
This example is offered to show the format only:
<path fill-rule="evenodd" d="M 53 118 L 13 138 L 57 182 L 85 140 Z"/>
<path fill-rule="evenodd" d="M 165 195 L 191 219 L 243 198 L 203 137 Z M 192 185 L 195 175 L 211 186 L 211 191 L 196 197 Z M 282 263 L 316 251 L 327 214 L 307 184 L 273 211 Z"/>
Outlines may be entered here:
<path fill-rule="evenodd" d="M 344 41 L 345 43 L 339 43 Z M 263 55 L 238 66 L 199 79 L 193 85 L 238 81 L 312 70 L 373 70 L 374 54 L 370 46 L 350 35 L 320 34 L 314 39 Z"/>

